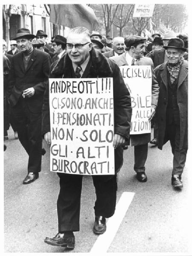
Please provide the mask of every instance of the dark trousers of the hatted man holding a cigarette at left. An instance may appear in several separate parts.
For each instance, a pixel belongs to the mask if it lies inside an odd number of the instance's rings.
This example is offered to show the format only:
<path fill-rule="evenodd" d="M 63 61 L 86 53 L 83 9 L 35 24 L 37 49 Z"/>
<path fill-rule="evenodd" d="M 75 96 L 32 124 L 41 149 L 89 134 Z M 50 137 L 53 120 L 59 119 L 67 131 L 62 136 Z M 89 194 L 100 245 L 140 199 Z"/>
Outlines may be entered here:
<path fill-rule="evenodd" d="M 20 98 L 12 114 L 20 143 L 29 155 L 28 172 L 41 172 L 41 113 L 29 111 L 25 99 Z"/>

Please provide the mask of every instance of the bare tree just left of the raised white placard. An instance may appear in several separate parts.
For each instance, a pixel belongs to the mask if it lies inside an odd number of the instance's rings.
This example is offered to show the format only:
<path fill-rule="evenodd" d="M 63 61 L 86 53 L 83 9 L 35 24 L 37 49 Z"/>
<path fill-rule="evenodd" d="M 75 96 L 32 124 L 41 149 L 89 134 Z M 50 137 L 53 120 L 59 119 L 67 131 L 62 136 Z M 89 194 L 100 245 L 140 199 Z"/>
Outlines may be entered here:
<path fill-rule="evenodd" d="M 122 29 L 127 25 L 133 9 L 133 4 L 119 4 L 115 18 L 112 20 L 113 24 L 119 28 L 119 36 L 122 36 Z"/>

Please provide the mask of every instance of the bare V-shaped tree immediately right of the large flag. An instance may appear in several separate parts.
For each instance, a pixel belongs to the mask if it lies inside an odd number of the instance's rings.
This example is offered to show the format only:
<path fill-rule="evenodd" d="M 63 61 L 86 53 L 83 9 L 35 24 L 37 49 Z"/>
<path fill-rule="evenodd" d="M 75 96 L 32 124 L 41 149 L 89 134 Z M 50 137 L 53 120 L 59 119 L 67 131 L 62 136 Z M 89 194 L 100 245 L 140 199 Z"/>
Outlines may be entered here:
<path fill-rule="evenodd" d="M 112 6 L 115 6 L 115 10 L 113 12 Z M 111 26 L 113 24 L 113 19 L 115 17 L 116 11 L 118 9 L 119 4 L 112 5 L 112 4 L 102 4 L 102 10 L 104 15 L 104 25 L 105 25 L 105 31 L 106 36 L 110 35 L 111 32 Z"/>

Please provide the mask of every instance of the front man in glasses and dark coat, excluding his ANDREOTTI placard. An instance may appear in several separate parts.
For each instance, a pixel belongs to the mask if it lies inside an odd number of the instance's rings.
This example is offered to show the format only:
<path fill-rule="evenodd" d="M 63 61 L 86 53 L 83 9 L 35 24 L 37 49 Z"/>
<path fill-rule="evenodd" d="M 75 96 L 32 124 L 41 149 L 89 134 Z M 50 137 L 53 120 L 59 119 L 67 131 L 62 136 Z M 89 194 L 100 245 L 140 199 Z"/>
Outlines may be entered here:
<path fill-rule="evenodd" d="M 70 31 L 67 37 L 67 54 L 56 64 L 51 78 L 113 78 L 115 175 L 93 175 L 96 189 L 95 224 L 93 232 L 106 230 L 105 218 L 114 214 L 116 205 L 116 172 L 122 166 L 122 144 L 129 139 L 131 122 L 131 98 L 122 79 L 119 67 L 93 49 L 90 32 L 83 27 Z M 42 133 L 50 145 L 49 92 L 44 95 Z M 82 175 L 58 173 L 60 193 L 58 196 L 58 234 L 46 238 L 47 244 L 74 248 L 73 231 L 79 231 Z"/>

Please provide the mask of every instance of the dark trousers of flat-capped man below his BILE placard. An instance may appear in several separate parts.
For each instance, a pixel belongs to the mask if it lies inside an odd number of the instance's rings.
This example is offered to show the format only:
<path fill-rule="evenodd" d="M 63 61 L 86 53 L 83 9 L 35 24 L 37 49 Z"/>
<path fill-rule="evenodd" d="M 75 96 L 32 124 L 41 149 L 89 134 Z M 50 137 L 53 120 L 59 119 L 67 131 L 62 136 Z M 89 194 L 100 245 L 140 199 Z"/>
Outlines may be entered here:
<path fill-rule="evenodd" d="M 145 162 L 148 154 L 148 143 L 134 146 L 134 170 L 135 172 L 145 172 Z"/>

